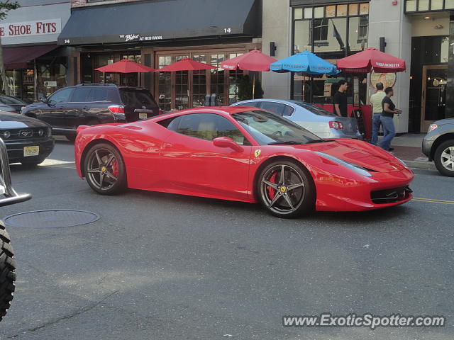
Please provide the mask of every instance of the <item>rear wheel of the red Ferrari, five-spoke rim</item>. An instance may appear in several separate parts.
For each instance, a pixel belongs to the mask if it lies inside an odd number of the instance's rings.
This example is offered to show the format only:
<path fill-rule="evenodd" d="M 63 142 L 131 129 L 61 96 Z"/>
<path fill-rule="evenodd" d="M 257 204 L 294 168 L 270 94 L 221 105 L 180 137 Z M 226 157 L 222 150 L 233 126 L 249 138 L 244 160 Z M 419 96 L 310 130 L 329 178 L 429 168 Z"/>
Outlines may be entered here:
<path fill-rule="evenodd" d="M 101 195 L 114 195 L 126 189 L 126 166 L 116 147 L 94 145 L 84 159 L 84 174 L 89 186 Z"/>

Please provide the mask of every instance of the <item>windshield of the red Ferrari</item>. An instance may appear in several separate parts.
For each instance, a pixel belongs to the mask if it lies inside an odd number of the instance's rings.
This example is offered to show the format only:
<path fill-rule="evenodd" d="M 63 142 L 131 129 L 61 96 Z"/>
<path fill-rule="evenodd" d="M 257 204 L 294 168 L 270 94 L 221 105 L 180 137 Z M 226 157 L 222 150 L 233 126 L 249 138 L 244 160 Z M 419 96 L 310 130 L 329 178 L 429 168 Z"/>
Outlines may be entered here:
<path fill-rule="evenodd" d="M 260 145 L 271 144 L 306 144 L 313 140 L 320 140 L 312 132 L 301 128 L 291 121 L 278 117 L 268 111 L 244 111 L 234 113 L 232 117 Z"/>

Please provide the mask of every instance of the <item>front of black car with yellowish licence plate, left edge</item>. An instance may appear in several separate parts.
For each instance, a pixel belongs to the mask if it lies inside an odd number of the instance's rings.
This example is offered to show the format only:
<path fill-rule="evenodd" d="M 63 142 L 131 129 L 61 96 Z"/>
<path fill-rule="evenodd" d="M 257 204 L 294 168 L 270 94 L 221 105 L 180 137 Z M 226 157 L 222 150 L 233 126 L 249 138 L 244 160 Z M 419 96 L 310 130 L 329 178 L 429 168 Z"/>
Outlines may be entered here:
<path fill-rule="evenodd" d="M 0 137 L 10 163 L 30 166 L 42 163 L 55 144 L 50 125 L 16 113 L 0 112 Z"/>

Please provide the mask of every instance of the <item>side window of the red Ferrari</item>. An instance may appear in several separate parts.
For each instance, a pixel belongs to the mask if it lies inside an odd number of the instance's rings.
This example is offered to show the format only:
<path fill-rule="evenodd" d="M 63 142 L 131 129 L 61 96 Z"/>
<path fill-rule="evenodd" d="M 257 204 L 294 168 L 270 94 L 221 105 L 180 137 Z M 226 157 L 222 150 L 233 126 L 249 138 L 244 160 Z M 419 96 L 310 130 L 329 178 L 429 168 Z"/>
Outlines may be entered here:
<path fill-rule="evenodd" d="M 165 126 L 167 122 L 162 122 Z M 195 113 L 180 115 L 168 123 L 167 128 L 182 135 L 200 138 L 202 140 L 214 140 L 217 137 L 230 137 L 239 145 L 250 145 L 233 123 L 221 115 L 214 113 Z"/>

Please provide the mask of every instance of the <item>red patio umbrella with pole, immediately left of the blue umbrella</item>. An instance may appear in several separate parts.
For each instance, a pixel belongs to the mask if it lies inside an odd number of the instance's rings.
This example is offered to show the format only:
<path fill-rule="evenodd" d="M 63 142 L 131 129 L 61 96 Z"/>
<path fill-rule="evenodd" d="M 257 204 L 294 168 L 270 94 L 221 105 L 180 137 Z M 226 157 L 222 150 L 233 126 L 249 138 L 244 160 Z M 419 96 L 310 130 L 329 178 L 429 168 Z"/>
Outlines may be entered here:
<path fill-rule="evenodd" d="M 267 72 L 270 64 L 277 59 L 265 55 L 259 50 L 252 50 L 244 55 L 238 55 L 232 59 L 221 62 L 223 69 L 243 69 L 244 71 Z M 253 98 L 255 97 L 255 74 L 253 76 Z"/>

